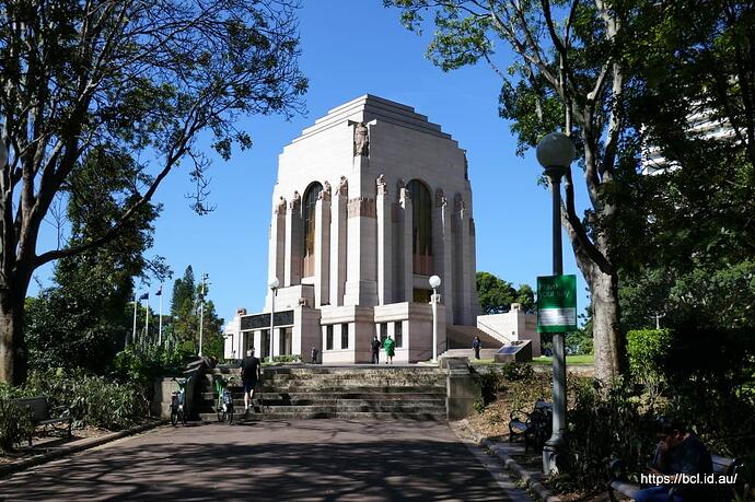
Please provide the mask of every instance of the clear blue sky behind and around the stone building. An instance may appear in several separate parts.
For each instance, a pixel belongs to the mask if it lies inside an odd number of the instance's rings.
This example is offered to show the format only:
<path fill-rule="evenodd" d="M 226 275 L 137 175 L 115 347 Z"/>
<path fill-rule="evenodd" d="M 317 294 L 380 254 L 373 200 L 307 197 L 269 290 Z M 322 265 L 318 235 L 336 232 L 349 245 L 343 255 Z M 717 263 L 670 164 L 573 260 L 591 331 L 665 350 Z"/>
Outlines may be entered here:
<path fill-rule="evenodd" d="M 466 149 L 477 269 L 515 287 L 534 288 L 537 276 L 549 275 L 550 196 L 536 183 L 542 168 L 534 152 L 524 159 L 514 153 L 515 139 L 498 117 L 500 80 L 489 67 L 443 73 L 425 58 L 429 36 L 406 31 L 398 11 L 383 8 L 382 0 L 303 3 L 300 66 L 310 79 L 306 116 L 290 121 L 277 116 L 242 121 L 254 145 L 235 152 L 230 162 L 216 156 L 211 201 L 217 209 L 208 215 L 196 215 L 184 198 L 191 191 L 187 173 L 172 173 L 156 195 L 164 210 L 155 224 L 151 254 L 166 258 L 174 279 L 187 265 L 197 278 L 209 273 L 209 297 L 226 320 L 240 306 L 259 311 L 267 283 L 267 235 L 278 154 L 328 109 L 369 93 L 413 106 Z M 499 52 L 500 61 L 510 58 L 508 48 L 500 47 Z M 574 173 L 576 182 L 580 177 Z M 579 203 L 585 200 L 583 183 L 576 187 Z M 586 305 L 585 284 L 566 238 L 564 255 L 565 273 L 578 276 L 581 313 Z M 36 277 L 46 283 L 49 275 L 47 267 Z M 153 283 L 152 294 L 156 288 Z M 171 289 L 172 281 L 165 287 L 165 310 Z M 153 295 L 151 306 L 158 310 Z"/>

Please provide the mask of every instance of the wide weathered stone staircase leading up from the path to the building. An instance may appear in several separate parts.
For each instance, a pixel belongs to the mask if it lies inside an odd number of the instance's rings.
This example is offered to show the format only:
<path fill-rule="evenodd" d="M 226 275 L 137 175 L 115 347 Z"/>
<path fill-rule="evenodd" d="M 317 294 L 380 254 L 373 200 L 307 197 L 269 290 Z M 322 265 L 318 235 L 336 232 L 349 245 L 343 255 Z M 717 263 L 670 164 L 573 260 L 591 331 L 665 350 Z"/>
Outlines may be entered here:
<path fill-rule="evenodd" d="M 237 369 L 213 370 L 200 382 L 199 417 L 217 421 L 212 374 L 232 377 L 234 421 L 301 419 L 446 419 L 446 372 L 437 367 L 350 365 L 272 366 L 263 394 L 244 416 Z M 259 392 L 259 390 L 257 390 Z"/>

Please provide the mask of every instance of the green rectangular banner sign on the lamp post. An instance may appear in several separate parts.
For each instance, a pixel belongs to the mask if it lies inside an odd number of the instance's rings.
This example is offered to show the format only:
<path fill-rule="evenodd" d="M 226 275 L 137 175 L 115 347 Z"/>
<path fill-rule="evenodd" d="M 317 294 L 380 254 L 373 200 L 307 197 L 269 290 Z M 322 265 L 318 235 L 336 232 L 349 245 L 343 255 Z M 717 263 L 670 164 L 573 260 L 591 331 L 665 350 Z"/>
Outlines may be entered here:
<path fill-rule="evenodd" d="M 577 330 L 577 276 L 537 278 L 537 332 Z"/>

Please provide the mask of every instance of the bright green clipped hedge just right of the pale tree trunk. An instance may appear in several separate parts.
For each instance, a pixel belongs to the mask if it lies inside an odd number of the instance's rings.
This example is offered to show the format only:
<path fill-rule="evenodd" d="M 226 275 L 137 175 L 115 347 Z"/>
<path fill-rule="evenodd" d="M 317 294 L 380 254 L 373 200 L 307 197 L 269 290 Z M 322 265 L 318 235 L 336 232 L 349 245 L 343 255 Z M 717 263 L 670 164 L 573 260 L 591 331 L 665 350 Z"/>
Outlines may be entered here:
<path fill-rule="evenodd" d="M 627 332 L 629 371 L 636 382 L 648 384 L 665 378 L 664 364 L 673 345 L 669 329 L 636 329 Z"/>

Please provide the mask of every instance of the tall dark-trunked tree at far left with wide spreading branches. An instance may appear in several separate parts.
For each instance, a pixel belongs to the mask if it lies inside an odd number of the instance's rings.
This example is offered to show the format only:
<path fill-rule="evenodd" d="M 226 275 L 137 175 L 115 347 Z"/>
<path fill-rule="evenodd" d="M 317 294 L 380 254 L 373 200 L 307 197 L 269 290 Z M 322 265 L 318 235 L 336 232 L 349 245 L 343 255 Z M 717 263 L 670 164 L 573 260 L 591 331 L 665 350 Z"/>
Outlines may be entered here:
<path fill-rule="evenodd" d="M 0 1 L 0 381 L 26 370 L 24 299 L 34 270 L 121 234 L 179 164 L 206 212 L 211 136 L 229 159 L 241 115 L 303 108 L 297 0 Z M 118 214 L 74 245 L 37 253 L 42 222 L 90 152 L 138 160 Z M 148 176 L 148 174 L 151 174 Z"/>

